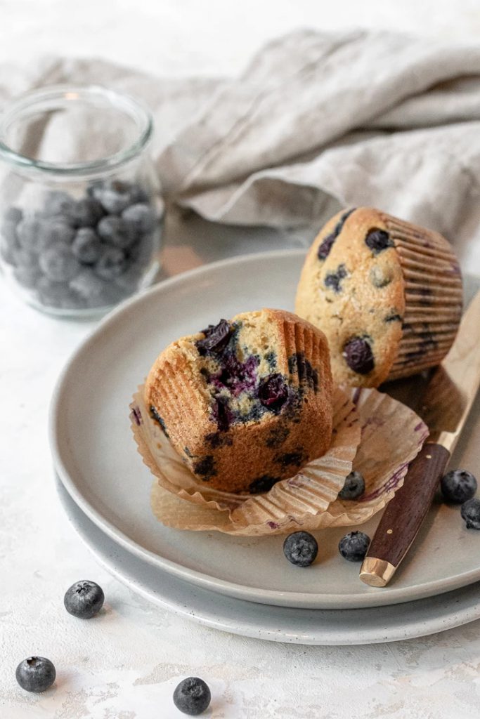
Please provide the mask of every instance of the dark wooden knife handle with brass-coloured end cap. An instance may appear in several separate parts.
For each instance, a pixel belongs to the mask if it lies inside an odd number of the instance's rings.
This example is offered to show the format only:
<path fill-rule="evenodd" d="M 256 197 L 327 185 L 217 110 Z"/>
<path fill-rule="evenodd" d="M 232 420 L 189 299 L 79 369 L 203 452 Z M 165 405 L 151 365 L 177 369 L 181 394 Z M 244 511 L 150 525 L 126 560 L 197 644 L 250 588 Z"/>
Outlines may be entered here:
<path fill-rule="evenodd" d="M 425 444 L 410 463 L 403 486 L 386 505 L 360 570 L 372 587 L 385 587 L 417 536 L 445 471 L 450 453 Z"/>

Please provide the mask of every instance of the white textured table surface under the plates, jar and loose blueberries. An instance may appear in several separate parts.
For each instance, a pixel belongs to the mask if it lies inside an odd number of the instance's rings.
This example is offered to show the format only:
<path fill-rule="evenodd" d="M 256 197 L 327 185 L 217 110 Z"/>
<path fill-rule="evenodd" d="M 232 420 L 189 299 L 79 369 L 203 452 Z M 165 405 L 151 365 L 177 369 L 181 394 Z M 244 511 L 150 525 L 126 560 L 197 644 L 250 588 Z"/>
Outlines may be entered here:
<path fill-rule="evenodd" d="M 480 36 L 476 0 L 211 0 L 208 10 L 194 0 L 0 0 L 0 18 L 0 61 L 101 55 L 164 75 L 233 73 L 263 40 L 307 24 Z M 233 243 L 217 229 L 197 230 L 168 249 L 169 273 L 250 247 L 247 234 Z M 267 233 L 262 245 L 255 249 L 276 239 Z M 58 373 L 91 326 L 42 316 L 0 283 L 2 719 L 179 717 L 171 695 L 189 674 L 212 687 L 207 716 L 218 719 L 478 719 L 480 621 L 394 644 L 273 644 L 154 608 L 96 565 L 58 504 L 46 429 Z M 107 596 L 105 613 L 91 622 L 63 609 L 66 587 L 86 577 Z M 35 653 L 58 669 L 43 695 L 27 695 L 14 679 L 18 661 Z"/>

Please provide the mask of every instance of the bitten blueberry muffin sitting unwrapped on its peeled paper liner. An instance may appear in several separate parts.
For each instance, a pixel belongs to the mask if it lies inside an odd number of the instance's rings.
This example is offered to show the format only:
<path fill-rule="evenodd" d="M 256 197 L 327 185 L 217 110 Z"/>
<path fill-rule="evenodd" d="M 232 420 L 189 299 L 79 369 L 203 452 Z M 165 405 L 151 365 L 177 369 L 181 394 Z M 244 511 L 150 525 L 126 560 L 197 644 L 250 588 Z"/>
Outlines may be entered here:
<path fill-rule="evenodd" d="M 266 492 L 330 446 L 327 340 L 289 312 L 245 312 L 178 339 L 144 392 L 152 420 L 215 489 Z"/>

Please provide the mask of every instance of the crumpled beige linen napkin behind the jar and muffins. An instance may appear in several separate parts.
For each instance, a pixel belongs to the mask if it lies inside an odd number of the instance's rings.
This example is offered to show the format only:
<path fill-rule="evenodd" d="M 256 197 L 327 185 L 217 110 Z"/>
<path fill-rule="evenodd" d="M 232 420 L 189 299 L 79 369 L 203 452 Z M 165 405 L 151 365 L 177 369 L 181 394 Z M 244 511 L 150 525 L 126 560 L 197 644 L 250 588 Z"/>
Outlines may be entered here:
<path fill-rule="evenodd" d="M 340 206 L 376 206 L 442 232 L 480 271 L 480 44 L 305 29 L 238 78 L 177 80 L 50 58 L 2 68 L 0 102 L 60 82 L 148 104 L 166 196 L 206 219 L 320 227 Z"/>

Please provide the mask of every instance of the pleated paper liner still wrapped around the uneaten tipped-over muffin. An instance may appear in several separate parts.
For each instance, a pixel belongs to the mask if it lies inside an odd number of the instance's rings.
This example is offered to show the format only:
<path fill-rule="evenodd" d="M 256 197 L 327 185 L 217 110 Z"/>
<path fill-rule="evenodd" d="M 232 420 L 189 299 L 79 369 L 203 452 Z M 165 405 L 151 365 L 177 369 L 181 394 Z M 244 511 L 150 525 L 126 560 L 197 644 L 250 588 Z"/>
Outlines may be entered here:
<path fill-rule="evenodd" d="M 389 380 L 438 365 L 457 334 L 462 278 L 450 244 L 438 232 L 384 215 L 402 265 L 405 313 Z"/>

